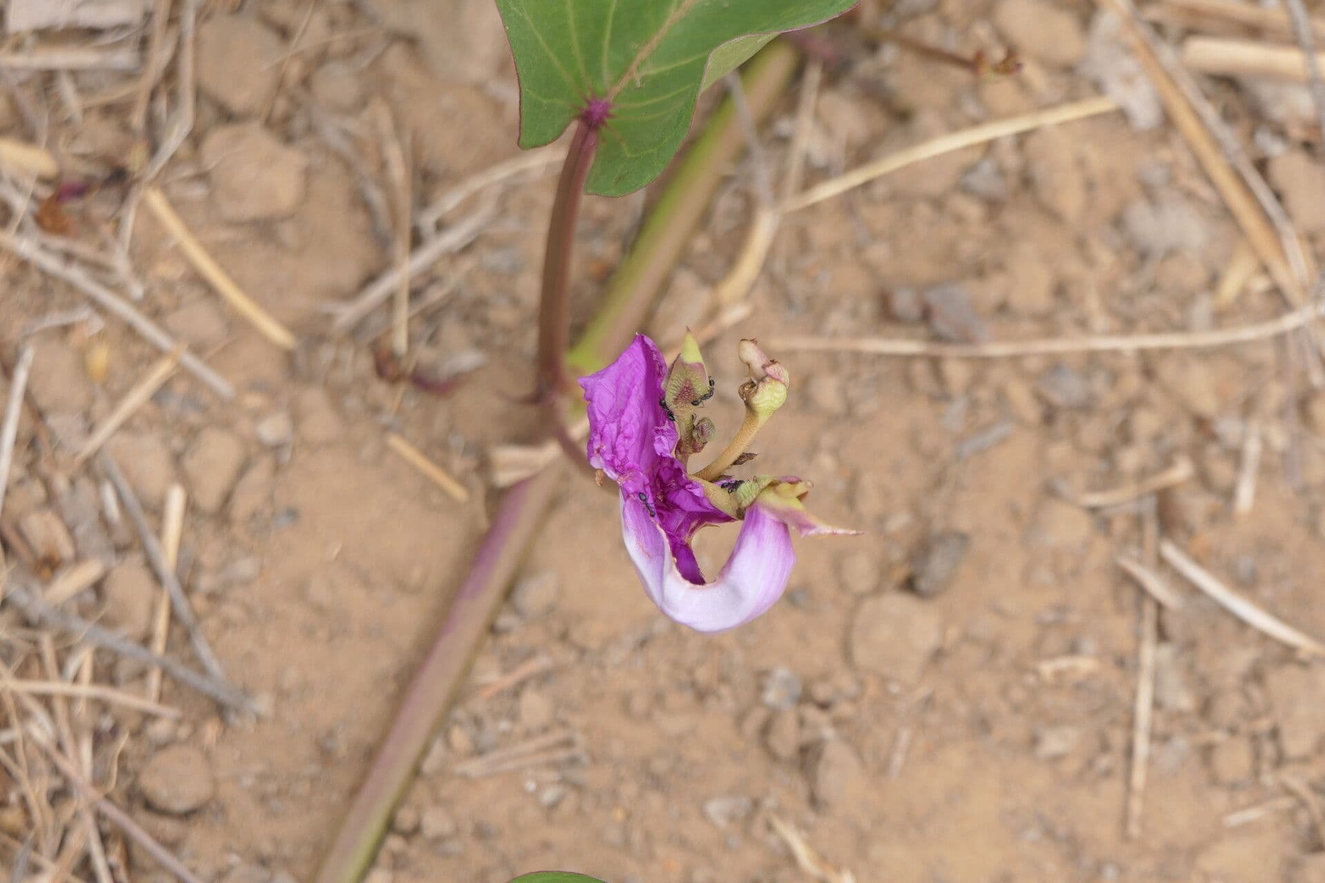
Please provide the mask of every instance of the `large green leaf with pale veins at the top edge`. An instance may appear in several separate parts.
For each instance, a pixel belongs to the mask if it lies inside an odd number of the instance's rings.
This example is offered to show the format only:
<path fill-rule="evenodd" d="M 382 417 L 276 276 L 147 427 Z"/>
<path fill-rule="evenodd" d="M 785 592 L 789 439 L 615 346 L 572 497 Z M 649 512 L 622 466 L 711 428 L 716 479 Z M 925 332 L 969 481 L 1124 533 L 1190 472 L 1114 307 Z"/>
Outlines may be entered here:
<path fill-rule="evenodd" d="M 761 40 L 853 3 L 497 0 L 519 74 L 519 146 L 555 140 L 590 98 L 608 99 L 612 116 L 584 189 L 637 191 L 681 146 L 702 85 L 754 54 Z"/>

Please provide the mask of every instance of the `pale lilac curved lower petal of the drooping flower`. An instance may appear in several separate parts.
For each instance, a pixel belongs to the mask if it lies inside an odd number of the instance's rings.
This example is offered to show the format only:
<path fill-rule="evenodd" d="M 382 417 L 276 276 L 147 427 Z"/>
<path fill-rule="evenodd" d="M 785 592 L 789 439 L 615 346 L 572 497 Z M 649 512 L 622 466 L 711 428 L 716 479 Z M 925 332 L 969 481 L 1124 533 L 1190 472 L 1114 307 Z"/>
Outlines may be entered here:
<path fill-rule="evenodd" d="M 765 613 L 782 597 L 796 563 L 790 530 L 759 507 L 746 512 L 718 579 L 700 585 L 681 575 L 644 504 L 624 495 L 621 532 L 645 593 L 668 618 L 696 631 L 726 631 Z"/>

